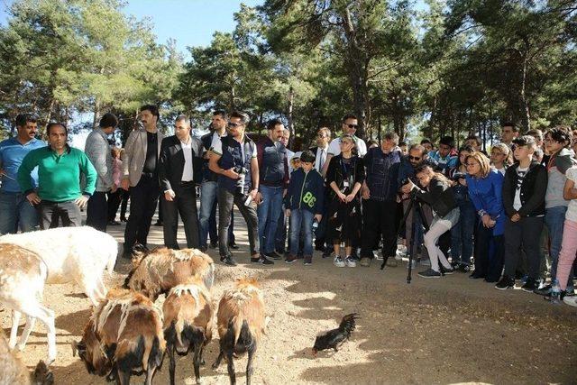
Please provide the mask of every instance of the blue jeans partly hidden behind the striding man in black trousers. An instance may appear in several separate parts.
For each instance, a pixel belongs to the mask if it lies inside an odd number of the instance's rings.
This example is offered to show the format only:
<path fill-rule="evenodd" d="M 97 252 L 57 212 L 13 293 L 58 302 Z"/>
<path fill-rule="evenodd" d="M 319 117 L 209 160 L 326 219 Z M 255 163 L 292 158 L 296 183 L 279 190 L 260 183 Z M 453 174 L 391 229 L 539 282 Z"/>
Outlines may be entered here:
<path fill-rule="evenodd" d="M 206 239 L 208 237 L 211 222 L 214 221 L 216 226 L 216 191 L 218 186 L 216 182 L 204 181 L 200 185 L 200 213 L 198 218 L 198 233 L 200 236 L 200 247 L 206 249 Z M 234 243 L 234 216 L 231 212 L 231 223 L 228 226 L 228 243 Z M 213 238 L 213 235 L 214 238 Z M 216 234 L 210 235 L 210 242 L 217 243 L 218 236 Z"/>

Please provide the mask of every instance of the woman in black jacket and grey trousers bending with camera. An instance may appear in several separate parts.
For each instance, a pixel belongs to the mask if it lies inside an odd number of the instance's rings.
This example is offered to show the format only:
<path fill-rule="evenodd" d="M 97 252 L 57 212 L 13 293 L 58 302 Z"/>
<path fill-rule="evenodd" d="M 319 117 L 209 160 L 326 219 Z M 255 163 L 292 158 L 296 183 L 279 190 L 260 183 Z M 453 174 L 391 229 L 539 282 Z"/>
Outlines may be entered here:
<path fill-rule="evenodd" d="M 419 200 L 431 206 L 434 215 L 433 221 L 423 237 L 426 251 L 431 260 L 431 267 L 419 272 L 418 276 L 440 278 L 444 274 L 453 273 L 453 267 L 438 245 L 439 238 L 459 221 L 459 207 L 454 198 L 451 181 L 443 174 L 435 172 L 428 165 L 419 166 L 415 174 L 423 189 L 418 188 L 410 179 L 406 186 L 411 189 L 411 194 L 415 194 Z"/>

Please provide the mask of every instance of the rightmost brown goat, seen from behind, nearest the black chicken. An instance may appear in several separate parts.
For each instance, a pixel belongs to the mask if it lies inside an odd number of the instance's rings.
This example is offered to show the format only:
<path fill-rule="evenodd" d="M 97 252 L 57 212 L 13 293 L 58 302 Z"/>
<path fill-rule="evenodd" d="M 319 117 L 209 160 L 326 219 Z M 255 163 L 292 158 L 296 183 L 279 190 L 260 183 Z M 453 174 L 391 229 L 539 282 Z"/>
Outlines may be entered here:
<path fill-rule="evenodd" d="M 218 304 L 216 319 L 220 353 L 213 369 L 226 356 L 228 376 L 231 384 L 235 384 L 233 355 L 248 353 L 246 383 L 250 385 L 252 358 L 265 328 L 264 301 L 256 280 L 237 280 L 233 289 L 226 290 Z"/>

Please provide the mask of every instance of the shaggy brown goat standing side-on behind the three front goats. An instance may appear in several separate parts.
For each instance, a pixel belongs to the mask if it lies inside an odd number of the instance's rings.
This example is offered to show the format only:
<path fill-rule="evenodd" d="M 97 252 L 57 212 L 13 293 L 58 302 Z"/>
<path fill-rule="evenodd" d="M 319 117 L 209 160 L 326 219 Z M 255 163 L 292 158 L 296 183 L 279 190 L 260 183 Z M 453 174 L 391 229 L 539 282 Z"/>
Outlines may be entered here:
<path fill-rule="evenodd" d="M 211 289 L 215 280 L 215 262 L 197 249 L 170 250 L 165 247 L 143 252 L 133 259 L 133 270 L 124 280 L 124 289 L 133 289 L 155 301 L 191 277 L 203 280 Z"/>

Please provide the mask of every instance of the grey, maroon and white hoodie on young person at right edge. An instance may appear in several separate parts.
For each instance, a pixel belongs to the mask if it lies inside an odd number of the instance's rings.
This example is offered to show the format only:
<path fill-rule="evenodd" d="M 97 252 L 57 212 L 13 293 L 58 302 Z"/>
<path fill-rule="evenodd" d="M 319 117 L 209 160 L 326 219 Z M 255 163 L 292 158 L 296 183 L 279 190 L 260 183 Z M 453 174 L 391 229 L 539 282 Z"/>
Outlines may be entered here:
<path fill-rule="evenodd" d="M 563 188 L 565 186 L 565 172 L 572 166 L 577 165 L 577 160 L 573 158 L 572 150 L 563 149 L 557 152 L 547 164 L 548 183 L 545 193 L 545 208 L 556 206 L 569 206 L 569 201 L 563 199 Z"/>

